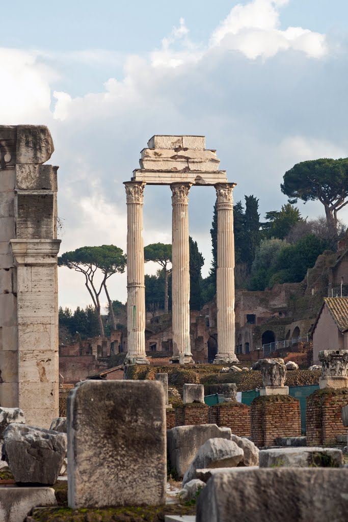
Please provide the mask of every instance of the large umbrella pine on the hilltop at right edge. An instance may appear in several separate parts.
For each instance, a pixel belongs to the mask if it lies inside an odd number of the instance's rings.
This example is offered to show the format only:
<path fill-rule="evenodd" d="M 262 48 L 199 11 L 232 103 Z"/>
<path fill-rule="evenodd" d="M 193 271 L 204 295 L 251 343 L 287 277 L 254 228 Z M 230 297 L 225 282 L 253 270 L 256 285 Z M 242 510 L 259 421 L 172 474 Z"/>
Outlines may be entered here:
<path fill-rule="evenodd" d="M 283 180 L 281 190 L 289 196 L 289 203 L 296 203 L 297 199 L 305 203 L 318 199 L 325 208 L 329 227 L 337 228 L 337 212 L 348 203 L 348 158 L 296 163 L 285 172 Z"/>

